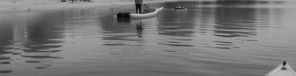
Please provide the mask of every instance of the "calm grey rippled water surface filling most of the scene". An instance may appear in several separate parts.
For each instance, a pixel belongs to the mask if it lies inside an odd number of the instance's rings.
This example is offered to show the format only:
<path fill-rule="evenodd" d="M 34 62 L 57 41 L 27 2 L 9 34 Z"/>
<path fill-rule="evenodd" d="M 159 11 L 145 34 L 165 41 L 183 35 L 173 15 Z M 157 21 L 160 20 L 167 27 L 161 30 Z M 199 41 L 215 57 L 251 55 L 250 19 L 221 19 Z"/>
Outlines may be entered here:
<path fill-rule="evenodd" d="M 263 76 L 283 61 L 296 69 L 295 3 L 157 3 L 148 5 L 164 7 L 157 17 L 131 20 L 112 16 L 134 6 L 0 13 L 0 75 Z"/>

